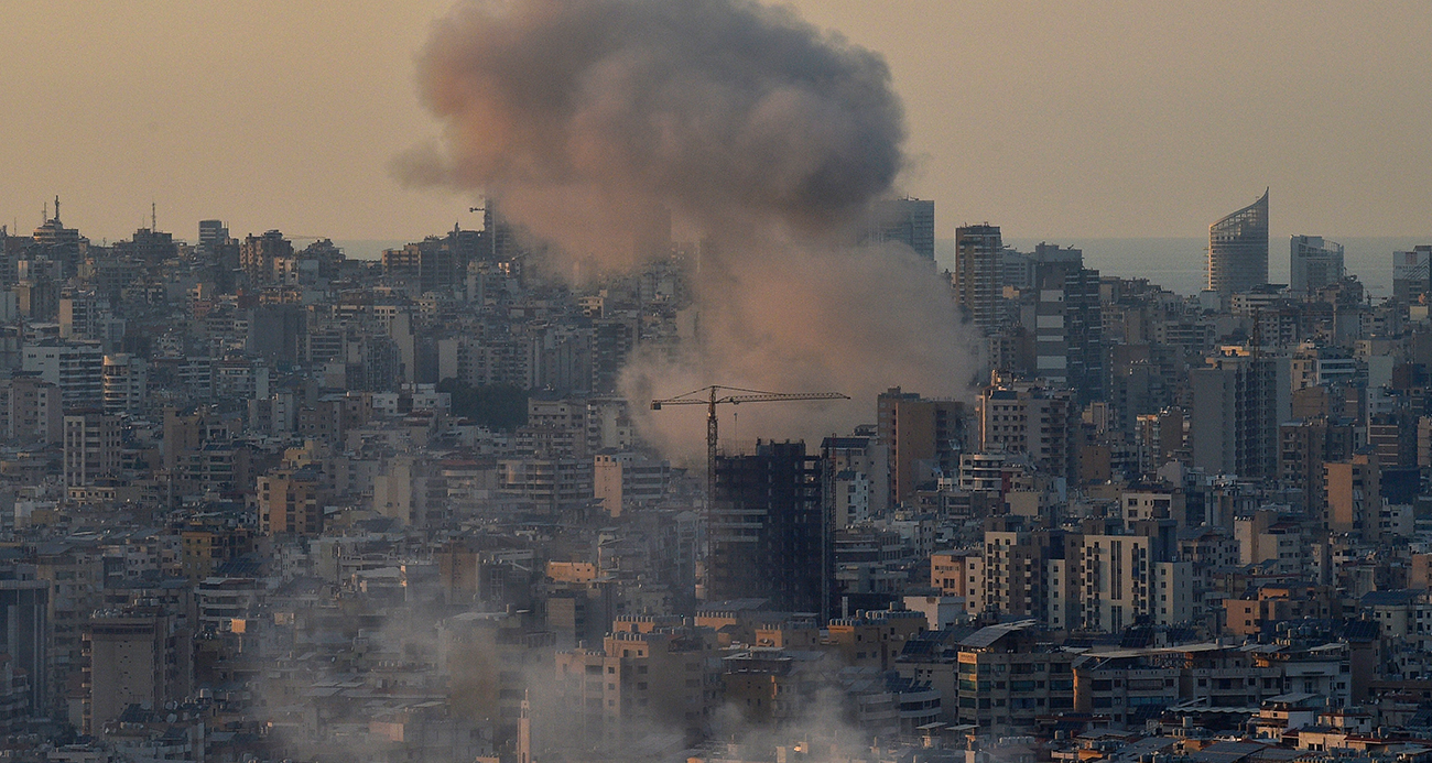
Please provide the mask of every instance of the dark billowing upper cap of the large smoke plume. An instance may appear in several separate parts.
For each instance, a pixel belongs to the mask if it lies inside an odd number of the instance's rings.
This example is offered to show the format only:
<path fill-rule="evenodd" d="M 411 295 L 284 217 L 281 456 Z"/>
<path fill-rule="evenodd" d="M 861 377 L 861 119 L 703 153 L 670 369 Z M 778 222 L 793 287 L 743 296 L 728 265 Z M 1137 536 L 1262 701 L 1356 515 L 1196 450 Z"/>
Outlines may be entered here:
<path fill-rule="evenodd" d="M 657 203 L 707 230 L 823 232 L 901 169 L 885 62 L 742 0 L 465 3 L 420 82 L 450 156 L 410 155 L 402 175 L 485 189 L 589 253 Z"/>

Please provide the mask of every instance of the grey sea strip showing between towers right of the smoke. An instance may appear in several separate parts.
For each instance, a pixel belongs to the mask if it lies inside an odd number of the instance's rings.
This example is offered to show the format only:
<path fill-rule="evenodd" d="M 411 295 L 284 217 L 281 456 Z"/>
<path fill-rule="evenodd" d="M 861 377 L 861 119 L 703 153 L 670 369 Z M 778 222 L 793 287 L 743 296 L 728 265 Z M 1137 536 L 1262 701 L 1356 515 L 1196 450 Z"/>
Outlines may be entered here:
<path fill-rule="evenodd" d="M 1358 276 L 1372 296 L 1392 293 L 1392 252 L 1411 249 L 1419 243 L 1432 243 L 1432 236 L 1378 236 L 1336 238 L 1327 240 L 1342 243 L 1343 265 L 1349 275 Z M 1161 239 L 1004 239 L 1005 245 L 1021 252 L 1032 252 L 1040 242 L 1074 246 L 1084 251 L 1084 266 L 1103 275 L 1121 278 L 1147 278 L 1169 291 L 1191 295 L 1204 286 L 1207 278 L 1207 238 L 1161 238 Z M 1269 242 L 1269 279 L 1287 283 L 1287 238 Z M 935 242 L 935 262 L 945 269 L 954 269 L 955 242 Z"/>

